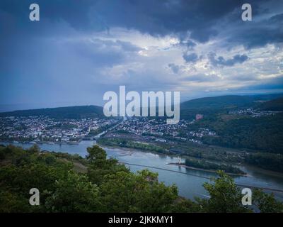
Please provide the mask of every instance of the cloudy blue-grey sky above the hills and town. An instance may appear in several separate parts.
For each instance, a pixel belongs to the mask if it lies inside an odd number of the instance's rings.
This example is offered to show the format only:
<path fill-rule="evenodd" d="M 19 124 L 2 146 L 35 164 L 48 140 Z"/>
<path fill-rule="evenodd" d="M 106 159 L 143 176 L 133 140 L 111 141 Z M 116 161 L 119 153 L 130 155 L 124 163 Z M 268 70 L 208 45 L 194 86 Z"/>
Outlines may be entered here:
<path fill-rule="evenodd" d="M 102 106 L 120 85 L 181 101 L 283 92 L 282 48 L 282 0 L 1 0 L 0 111 Z"/>

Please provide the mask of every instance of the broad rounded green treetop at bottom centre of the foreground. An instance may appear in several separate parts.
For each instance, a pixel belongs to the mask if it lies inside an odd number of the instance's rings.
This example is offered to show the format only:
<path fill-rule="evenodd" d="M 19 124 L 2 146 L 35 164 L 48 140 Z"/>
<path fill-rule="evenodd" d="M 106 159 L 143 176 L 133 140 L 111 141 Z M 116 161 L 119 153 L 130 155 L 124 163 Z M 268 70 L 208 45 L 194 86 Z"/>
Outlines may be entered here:
<path fill-rule="evenodd" d="M 116 172 L 101 184 L 103 211 L 107 212 L 166 212 L 178 197 L 175 185 L 166 187 L 158 175 L 149 170 L 137 174 Z"/>

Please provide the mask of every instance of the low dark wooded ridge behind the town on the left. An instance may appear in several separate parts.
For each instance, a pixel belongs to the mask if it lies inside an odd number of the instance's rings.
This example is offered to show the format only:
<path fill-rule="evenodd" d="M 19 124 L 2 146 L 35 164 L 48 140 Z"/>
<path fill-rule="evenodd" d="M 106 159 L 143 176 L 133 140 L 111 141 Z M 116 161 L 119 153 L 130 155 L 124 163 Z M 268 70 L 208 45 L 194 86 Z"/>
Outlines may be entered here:
<path fill-rule="evenodd" d="M 96 118 L 103 117 L 101 106 L 67 106 L 45 109 L 29 109 L 0 113 L 0 116 L 49 116 L 50 118 Z"/>

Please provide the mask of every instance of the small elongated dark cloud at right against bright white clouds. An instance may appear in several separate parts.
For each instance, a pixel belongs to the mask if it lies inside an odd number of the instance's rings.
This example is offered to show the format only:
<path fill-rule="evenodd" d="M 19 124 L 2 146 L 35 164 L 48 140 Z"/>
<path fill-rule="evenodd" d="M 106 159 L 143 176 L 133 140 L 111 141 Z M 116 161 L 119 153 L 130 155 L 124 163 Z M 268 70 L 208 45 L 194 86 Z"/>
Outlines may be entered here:
<path fill-rule="evenodd" d="M 216 54 L 213 52 L 209 53 L 208 57 L 209 61 L 214 66 L 233 66 L 237 63 L 243 63 L 248 60 L 247 55 L 234 55 L 231 59 L 225 60 L 222 56 L 216 57 Z"/>

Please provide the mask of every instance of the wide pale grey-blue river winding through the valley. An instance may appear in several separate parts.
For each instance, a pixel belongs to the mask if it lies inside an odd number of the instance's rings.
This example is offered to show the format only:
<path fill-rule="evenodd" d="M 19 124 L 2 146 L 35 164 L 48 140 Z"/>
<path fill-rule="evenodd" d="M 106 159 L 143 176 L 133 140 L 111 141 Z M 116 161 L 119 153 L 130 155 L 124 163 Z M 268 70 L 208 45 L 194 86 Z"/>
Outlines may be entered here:
<path fill-rule="evenodd" d="M 1 143 L 1 142 L 0 142 Z M 68 144 L 39 144 L 41 150 L 59 151 L 70 154 L 79 154 L 82 157 L 86 155 L 86 148 L 95 144 L 96 141 L 83 140 L 76 145 Z M 7 143 L 2 143 L 7 144 Z M 32 144 L 28 143 L 15 143 L 23 148 L 29 148 Z M 207 192 L 202 187 L 204 182 L 208 182 L 209 179 L 205 177 L 215 177 L 213 172 L 204 172 L 200 170 L 189 170 L 184 167 L 178 167 L 175 165 L 166 165 L 168 162 L 178 162 L 177 157 L 171 157 L 168 155 L 157 155 L 156 153 L 149 153 L 138 150 L 124 150 L 120 148 L 104 148 L 108 154 L 108 157 L 115 157 L 120 162 L 127 162 L 135 165 L 128 165 L 132 172 L 142 170 L 146 167 L 137 165 L 146 165 L 151 167 L 157 167 L 161 169 L 147 167 L 153 172 L 158 172 L 159 181 L 164 182 L 166 185 L 176 184 L 179 189 L 179 194 L 187 198 L 193 199 L 195 196 L 205 198 Z M 237 184 L 279 189 L 283 191 L 283 175 L 274 172 L 261 170 L 255 167 L 241 166 L 241 169 L 248 173 L 248 177 L 234 177 Z M 173 170 L 173 171 L 167 171 Z M 277 199 L 283 201 L 282 192 L 274 192 Z"/>

